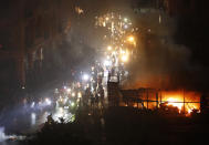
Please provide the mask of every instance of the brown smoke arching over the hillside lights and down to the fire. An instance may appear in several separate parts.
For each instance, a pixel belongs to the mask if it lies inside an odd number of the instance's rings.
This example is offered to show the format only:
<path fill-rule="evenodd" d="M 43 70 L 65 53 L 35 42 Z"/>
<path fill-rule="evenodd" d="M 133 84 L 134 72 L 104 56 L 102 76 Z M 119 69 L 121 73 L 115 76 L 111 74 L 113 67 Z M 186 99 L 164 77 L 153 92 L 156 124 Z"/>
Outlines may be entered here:
<path fill-rule="evenodd" d="M 109 11 L 121 12 L 132 19 L 139 30 L 136 33 L 137 53 L 127 65 L 129 77 L 124 83 L 125 87 L 207 87 L 207 69 L 194 63 L 190 48 L 177 44 L 174 39 L 178 29 L 177 21 L 156 9 L 138 8 L 134 11 L 132 4 L 134 3 L 128 0 L 77 1 L 75 6 L 83 9 L 84 13 L 72 13 L 71 32 L 66 38 L 69 50 L 64 52 L 71 62 L 86 64 L 90 58 L 98 59 L 97 52 L 104 44 L 104 32 L 94 28 L 95 17 Z"/>

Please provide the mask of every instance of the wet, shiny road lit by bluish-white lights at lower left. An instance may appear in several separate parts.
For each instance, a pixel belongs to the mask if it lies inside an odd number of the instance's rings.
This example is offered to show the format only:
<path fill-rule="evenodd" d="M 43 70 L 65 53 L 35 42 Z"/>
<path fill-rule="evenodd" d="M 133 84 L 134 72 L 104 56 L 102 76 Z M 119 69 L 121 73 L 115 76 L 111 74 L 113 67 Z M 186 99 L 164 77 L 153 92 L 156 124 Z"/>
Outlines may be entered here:
<path fill-rule="evenodd" d="M 49 96 L 49 95 L 48 95 Z M 17 145 L 15 142 L 2 142 L 9 135 L 21 135 L 34 133 L 46 121 L 48 115 L 52 114 L 55 121 L 60 117 L 74 120 L 70 108 L 60 107 L 52 97 L 43 97 L 42 102 L 20 103 L 10 106 L 0 113 L 0 144 Z"/>

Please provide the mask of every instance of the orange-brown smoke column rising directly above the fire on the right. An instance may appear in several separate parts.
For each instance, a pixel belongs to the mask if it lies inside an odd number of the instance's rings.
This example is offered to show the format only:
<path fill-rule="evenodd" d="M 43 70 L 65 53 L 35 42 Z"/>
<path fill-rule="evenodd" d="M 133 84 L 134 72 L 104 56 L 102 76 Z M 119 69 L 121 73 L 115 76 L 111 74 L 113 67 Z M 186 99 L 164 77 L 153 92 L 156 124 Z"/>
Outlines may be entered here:
<path fill-rule="evenodd" d="M 125 87 L 194 89 L 191 51 L 176 44 L 176 21 L 149 9 L 136 15 L 139 28 L 137 56 L 128 66 Z"/>

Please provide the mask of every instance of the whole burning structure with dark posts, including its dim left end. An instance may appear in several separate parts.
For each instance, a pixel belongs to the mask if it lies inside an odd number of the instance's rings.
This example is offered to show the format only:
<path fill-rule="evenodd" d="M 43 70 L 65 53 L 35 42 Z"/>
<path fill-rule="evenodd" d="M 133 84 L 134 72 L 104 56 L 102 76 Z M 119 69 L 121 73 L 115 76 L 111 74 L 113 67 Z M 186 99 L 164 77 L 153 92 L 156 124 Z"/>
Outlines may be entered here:
<path fill-rule="evenodd" d="M 122 106 L 176 112 L 189 116 L 200 113 L 200 93 L 189 91 L 157 91 L 154 89 L 121 90 Z"/>

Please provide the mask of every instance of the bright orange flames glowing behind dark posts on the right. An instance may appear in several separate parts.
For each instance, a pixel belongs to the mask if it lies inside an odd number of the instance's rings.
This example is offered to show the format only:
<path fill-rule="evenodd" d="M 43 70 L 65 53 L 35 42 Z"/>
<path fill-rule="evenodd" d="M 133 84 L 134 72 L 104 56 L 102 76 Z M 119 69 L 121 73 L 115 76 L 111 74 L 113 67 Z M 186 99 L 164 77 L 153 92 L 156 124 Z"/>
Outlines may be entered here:
<path fill-rule="evenodd" d="M 140 96 L 144 100 L 143 104 L 136 102 L 129 102 L 128 104 L 124 104 L 124 106 L 133 106 L 138 108 L 147 107 L 151 110 L 151 108 L 156 108 L 156 106 L 158 107 L 158 103 L 159 103 L 160 106 L 164 106 L 161 108 L 169 110 L 171 107 L 176 107 L 178 108 L 179 114 L 186 116 L 190 116 L 190 114 L 194 111 L 196 113 L 200 113 L 201 94 L 198 92 L 158 91 L 157 94 L 158 95 L 156 95 L 155 91 L 154 92 L 145 91 L 144 93 L 140 93 Z"/>

